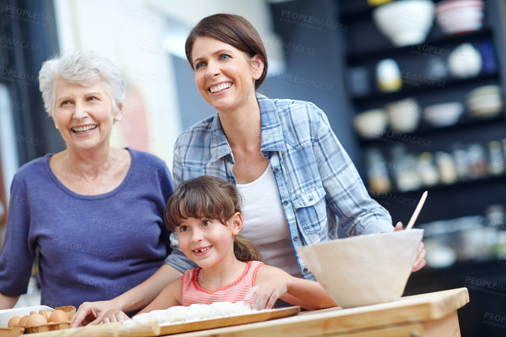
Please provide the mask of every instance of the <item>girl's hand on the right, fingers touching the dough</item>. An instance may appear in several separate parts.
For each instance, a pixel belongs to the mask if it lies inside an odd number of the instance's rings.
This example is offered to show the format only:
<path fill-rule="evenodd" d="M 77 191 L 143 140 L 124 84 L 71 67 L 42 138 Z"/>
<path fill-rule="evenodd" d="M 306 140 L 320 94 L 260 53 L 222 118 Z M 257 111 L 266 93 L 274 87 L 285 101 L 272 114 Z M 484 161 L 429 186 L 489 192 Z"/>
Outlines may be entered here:
<path fill-rule="evenodd" d="M 255 296 L 252 305 L 253 310 L 271 309 L 277 299 L 288 291 L 290 277 L 276 275 L 256 284 L 249 289 L 244 301 L 248 301 L 252 296 Z"/>

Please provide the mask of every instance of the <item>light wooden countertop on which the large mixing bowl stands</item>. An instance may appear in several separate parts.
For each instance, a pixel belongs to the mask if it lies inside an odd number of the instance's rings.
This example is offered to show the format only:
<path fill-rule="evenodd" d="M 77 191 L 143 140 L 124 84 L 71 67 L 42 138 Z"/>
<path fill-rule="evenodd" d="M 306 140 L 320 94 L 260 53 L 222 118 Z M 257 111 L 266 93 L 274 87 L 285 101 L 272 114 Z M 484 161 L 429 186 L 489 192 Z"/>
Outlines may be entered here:
<path fill-rule="evenodd" d="M 304 337 L 355 332 L 395 324 L 441 319 L 469 303 L 467 288 L 458 288 L 403 297 L 398 301 L 342 309 L 301 312 L 292 317 L 184 333 L 185 337 Z"/>

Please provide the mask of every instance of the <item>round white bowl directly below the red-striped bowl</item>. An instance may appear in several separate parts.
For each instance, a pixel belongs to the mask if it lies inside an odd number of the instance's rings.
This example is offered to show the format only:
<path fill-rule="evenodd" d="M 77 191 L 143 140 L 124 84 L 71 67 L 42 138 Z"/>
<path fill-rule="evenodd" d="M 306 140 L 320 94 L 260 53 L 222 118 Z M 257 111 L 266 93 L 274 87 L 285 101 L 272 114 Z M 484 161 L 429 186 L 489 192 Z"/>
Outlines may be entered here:
<path fill-rule="evenodd" d="M 471 78 L 481 71 L 480 52 L 470 43 L 457 46 L 448 57 L 448 69 L 456 78 Z"/>

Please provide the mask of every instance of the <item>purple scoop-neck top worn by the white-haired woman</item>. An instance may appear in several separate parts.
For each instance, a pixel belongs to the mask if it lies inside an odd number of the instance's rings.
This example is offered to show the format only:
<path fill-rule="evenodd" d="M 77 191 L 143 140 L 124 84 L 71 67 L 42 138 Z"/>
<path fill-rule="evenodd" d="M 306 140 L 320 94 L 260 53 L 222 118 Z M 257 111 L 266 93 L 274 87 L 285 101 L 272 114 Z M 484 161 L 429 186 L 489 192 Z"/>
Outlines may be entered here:
<path fill-rule="evenodd" d="M 19 169 L 11 185 L 0 293 L 26 292 L 37 249 L 41 304 L 53 308 L 110 300 L 158 270 L 170 251 L 163 212 L 174 191 L 171 173 L 160 158 L 127 149 L 130 170 L 105 194 L 66 188 L 51 171 L 51 154 Z"/>

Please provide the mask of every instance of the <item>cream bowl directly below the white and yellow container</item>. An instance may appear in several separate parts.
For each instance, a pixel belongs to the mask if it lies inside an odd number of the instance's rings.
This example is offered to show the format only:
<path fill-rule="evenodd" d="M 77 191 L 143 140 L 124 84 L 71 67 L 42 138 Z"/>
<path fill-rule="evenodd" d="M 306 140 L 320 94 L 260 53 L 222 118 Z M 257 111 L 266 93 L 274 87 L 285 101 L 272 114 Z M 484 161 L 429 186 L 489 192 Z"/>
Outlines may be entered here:
<path fill-rule="evenodd" d="M 420 106 L 412 98 L 406 98 L 385 105 L 392 131 L 407 134 L 418 128 L 420 122 Z"/>

